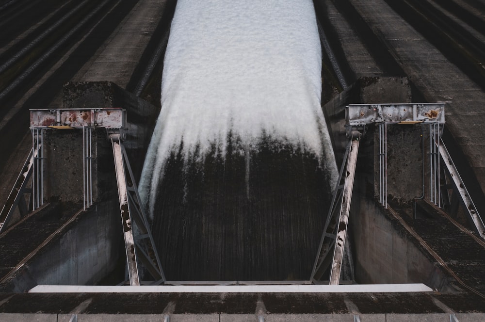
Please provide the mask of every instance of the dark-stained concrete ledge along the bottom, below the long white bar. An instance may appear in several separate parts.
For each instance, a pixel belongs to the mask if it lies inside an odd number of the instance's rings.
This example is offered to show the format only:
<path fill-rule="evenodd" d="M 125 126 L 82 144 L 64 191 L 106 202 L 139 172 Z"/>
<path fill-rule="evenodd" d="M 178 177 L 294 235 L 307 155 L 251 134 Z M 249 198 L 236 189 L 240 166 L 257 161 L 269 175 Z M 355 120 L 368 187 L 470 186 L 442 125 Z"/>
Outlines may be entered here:
<path fill-rule="evenodd" d="M 321 316 L 358 314 L 380 319 L 393 314 L 484 313 L 485 300 L 472 293 L 0 293 L 1 313 L 60 313 L 132 316 L 170 314 Z M 25 303 L 29 303 L 28 306 Z M 258 312 L 257 307 L 264 306 Z M 349 308 L 348 304 L 353 303 Z M 190 317 L 189 317 L 190 318 Z M 254 320 L 253 320 L 254 321 Z M 372 321 L 372 320 L 367 320 Z"/>

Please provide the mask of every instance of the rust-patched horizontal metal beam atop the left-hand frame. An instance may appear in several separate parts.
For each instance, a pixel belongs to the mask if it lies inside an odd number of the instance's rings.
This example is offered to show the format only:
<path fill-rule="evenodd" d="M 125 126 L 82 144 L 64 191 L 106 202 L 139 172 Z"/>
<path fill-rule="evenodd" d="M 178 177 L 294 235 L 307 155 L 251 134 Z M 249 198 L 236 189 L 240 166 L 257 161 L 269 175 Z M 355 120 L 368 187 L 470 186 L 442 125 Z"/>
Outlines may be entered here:
<path fill-rule="evenodd" d="M 126 127 L 126 110 L 105 109 L 42 109 L 31 110 L 30 126 L 47 127 L 100 127 L 120 129 Z"/>

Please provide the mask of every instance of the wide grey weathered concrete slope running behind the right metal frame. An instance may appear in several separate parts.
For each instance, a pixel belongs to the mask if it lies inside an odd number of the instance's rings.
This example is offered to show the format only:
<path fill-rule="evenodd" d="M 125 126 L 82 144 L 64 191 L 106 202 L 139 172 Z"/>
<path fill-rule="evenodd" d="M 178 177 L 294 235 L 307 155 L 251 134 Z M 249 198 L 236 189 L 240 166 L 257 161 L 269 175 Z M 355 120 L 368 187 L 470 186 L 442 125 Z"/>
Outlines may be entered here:
<path fill-rule="evenodd" d="M 387 46 L 424 98 L 429 102 L 445 101 L 446 127 L 461 147 L 473 176 L 464 177 L 465 183 L 478 181 L 472 197 L 485 191 L 485 93 L 465 76 L 424 37 L 411 28 L 384 0 L 350 0 L 374 33 Z M 446 144 L 447 142 L 445 142 Z M 466 168 L 466 164 L 462 170 Z M 460 169 L 459 169 L 460 170 Z M 462 174 L 463 176 L 463 174 Z M 478 199 L 478 198 L 476 198 Z M 477 200 L 483 207 L 482 200 Z"/>

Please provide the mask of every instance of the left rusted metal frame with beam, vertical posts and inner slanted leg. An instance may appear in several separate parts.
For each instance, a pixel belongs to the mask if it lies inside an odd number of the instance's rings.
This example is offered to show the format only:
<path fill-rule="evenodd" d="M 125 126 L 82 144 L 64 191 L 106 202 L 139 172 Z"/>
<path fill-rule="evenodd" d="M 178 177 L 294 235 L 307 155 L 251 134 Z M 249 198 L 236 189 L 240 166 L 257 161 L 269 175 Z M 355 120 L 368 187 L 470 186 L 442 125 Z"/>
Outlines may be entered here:
<path fill-rule="evenodd" d="M 33 151 L 42 146 L 47 129 L 82 129 L 83 209 L 93 205 L 93 129 L 105 128 L 113 146 L 113 158 L 118 183 L 120 213 L 125 237 L 127 264 L 131 285 L 141 285 L 143 268 L 155 279 L 165 282 L 162 265 L 142 207 L 135 179 L 123 146 L 126 111 L 106 109 L 43 109 L 31 110 Z M 41 152 L 42 153 L 42 152 Z M 38 153 L 37 153 L 38 155 Z M 43 155 L 32 159 L 34 209 L 43 202 Z"/>

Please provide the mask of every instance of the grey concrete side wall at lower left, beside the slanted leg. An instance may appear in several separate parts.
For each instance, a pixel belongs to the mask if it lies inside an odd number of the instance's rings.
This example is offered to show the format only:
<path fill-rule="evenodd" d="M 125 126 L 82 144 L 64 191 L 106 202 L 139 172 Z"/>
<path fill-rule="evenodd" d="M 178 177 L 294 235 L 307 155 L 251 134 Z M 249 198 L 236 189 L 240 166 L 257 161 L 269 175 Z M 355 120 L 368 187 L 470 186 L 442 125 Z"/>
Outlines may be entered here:
<path fill-rule="evenodd" d="M 94 285 L 124 255 L 119 204 L 115 199 L 83 212 L 73 225 L 41 249 L 11 281 L 24 292 L 37 284 Z"/>

